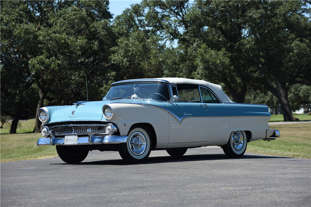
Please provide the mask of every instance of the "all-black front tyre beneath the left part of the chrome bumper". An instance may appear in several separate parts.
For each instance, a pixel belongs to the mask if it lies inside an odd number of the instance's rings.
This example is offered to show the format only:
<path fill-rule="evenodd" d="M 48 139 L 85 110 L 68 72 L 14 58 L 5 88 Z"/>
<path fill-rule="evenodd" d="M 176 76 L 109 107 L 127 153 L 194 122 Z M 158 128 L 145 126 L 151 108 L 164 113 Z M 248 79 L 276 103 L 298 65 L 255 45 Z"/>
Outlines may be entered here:
<path fill-rule="evenodd" d="M 88 150 L 76 150 L 70 146 L 56 145 L 56 151 L 64 162 L 67 163 L 79 163 L 82 162 L 87 154 Z"/>

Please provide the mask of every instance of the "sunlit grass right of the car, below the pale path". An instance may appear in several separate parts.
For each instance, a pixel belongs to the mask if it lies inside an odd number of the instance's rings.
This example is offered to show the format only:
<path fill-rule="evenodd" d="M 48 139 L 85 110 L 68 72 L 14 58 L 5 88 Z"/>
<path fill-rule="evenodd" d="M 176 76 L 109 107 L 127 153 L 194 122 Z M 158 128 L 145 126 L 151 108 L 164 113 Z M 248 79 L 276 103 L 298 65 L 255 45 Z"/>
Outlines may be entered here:
<path fill-rule="evenodd" d="M 311 124 L 271 125 L 281 137 L 273 141 L 248 142 L 246 151 L 265 155 L 311 159 Z"/>

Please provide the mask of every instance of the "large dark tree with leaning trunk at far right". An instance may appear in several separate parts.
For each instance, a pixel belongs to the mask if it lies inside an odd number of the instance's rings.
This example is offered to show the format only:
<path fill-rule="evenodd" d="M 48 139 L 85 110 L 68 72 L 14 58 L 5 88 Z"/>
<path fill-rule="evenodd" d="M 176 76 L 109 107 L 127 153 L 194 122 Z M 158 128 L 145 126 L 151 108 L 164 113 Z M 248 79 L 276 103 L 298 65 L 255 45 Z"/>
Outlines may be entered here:
<path fill-rule="evenodd" d="M 311 22 L 306 2 L 263 2 L 253 25 L 260 64 L 255 80 L 275 95 L 284 121 L 298 120 L 292 114 L 288 92 L 292 85 L 311 84 Z"/>

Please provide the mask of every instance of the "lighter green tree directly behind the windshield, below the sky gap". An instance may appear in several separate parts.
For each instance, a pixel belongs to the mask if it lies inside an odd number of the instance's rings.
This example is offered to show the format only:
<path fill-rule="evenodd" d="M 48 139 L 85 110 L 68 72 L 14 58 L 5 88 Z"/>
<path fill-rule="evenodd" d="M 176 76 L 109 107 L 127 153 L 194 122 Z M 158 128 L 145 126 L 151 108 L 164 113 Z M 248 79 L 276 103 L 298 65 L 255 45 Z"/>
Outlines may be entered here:
<path fill-rule="evenodd" d="M 111 49 L 111 61 L 116 65 L 116 80 L 157 78 L 163 76 L 165 62 L 162 38 L 146 25 L 142 4 L 134 4 L 113 22 L 117 46 Z"/>

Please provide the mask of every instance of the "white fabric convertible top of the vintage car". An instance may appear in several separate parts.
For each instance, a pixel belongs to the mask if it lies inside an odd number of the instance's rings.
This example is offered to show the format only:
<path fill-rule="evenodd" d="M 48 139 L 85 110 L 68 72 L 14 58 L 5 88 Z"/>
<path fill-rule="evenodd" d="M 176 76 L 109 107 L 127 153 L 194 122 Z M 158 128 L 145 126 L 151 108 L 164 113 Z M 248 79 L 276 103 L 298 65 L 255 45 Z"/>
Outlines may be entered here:
<path fill-rule="evenodd" d="M 212 91 L 214 91 L 222 102 L 232 102 L 230 98 L 222 90 L 220 85 L 209 83 L 205 80 L 194 80 L 194 79 L 187 79 L 187 78 L 155 78 L 155 79 L 166 80 L 169 83 L 173 83 L 173 84 L 190 83 L 190 84 L 198 84 L 198 85 L 206 86 L 210 88 Z"/>

